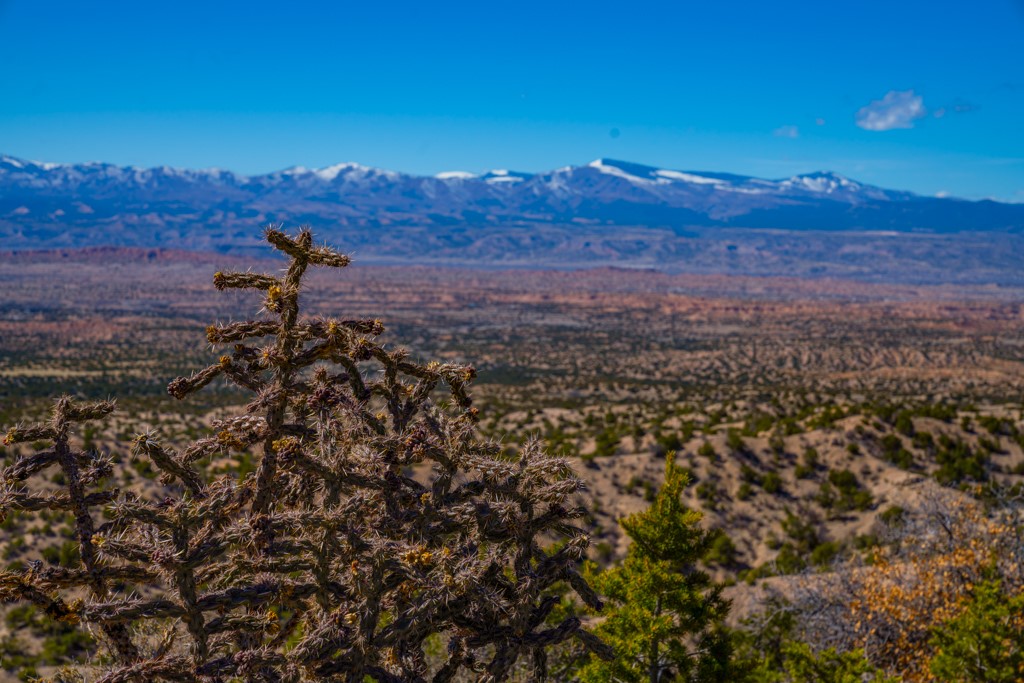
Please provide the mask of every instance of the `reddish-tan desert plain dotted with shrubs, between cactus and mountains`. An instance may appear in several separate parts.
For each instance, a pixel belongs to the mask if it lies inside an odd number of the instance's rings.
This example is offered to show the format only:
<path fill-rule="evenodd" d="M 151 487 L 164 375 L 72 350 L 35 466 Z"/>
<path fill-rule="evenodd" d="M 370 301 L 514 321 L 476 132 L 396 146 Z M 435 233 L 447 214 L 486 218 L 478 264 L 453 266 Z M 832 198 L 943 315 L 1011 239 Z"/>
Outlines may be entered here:
<path fill-rule="evenodd" d="M 205 428 L 209 409 L 237 412 L 244 398 L 221 383 L 184 402 L 166 385 L 213 360 L 210 322 L 258 307 L 211 283 L 217 269 L 249 265 L 273 272 L 280 262 L 110 249 L 0 256 L 0 424 L 38 417 L 66 391 L 116 395 L 122 412 L 103 439 L 120 451 L 139 431 L 177 442 Z M 839 547 L 933 477 L 959 481 L 939 468 L 944 446 L 906 433 L 966 443 L 986 478 L 1020 480 L 1021 300 L 986 287 L 358 263 L 315 273 L 303 295 L 310 313 L 381 317 L 387 343 L 415 357 L 472 362 L 484 433 L 509 445 L 536 435 L 580 459 L 599 501 L 598 553 L 623 550 L 615 520 L 646 505 L 665 451 L 678 450 L 696 478 L 690 503 L 737 545 L 733 574 L 771 562 L 788 510 Z M 1002 431 L 978 427 L 990 423 Z M 820 493 L 829 471 L 847 469 L 872 502 L 837 512 Z"/>

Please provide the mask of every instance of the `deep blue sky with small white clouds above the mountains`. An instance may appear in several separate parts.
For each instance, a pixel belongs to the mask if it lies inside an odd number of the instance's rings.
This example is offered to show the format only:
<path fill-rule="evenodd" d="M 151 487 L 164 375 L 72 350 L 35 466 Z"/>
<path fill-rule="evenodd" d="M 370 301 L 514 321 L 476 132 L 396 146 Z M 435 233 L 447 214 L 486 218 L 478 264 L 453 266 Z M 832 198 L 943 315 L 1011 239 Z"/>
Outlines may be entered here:
<path fill-rule="evenodd" d="M 413 173 L 598 157 L 1024 202 L 1024 0 L 0 0 L 0 153 Z"/>

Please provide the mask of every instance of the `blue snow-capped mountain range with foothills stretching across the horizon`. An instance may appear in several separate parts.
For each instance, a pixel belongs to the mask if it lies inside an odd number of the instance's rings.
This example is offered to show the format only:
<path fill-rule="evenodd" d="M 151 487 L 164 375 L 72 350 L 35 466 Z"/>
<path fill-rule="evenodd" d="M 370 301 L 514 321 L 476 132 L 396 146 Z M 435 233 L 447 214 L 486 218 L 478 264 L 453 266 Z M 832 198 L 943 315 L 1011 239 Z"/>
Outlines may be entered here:
<path fill-rule="evenodd" d="M 267 223 L 310 224 L 372 261 L 871 278 L 912 259 L 928 280 L 965 252 L 946 276 L 976 280 L 978 267 L 1005 269 L 1024 253 L 1024 205 L 923 197 L 830 172 L 762 179 L 599 159 L 543 173 L 417 176 L 346 163 L 245 176 L 0 156 L 9 250 L 239 251 Z M 987 264 L 986 246 L 998 252 Z"/>

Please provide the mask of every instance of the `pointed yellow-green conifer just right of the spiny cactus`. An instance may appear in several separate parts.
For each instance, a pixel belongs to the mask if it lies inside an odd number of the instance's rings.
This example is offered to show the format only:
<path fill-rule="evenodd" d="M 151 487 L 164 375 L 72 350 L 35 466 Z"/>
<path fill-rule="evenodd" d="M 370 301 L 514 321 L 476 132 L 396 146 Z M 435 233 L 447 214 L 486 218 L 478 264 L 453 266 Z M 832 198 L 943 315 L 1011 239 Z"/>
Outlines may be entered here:
<path fill-rule="evenodd" d="M 579 672 L 584 683 L 729 680 L 731 646 L 722 628 L 729 603 L 696 566 L 717 535 L 701 529 L 701 514 L 680 501 L 688 484 L 670 456 L 650 508 L 621 522 L 633 541 L 626 559 L 603 571 L 589 567 L 588 581 L 607 598 L 595 631 L 616 656 L 590 657 Z"/>

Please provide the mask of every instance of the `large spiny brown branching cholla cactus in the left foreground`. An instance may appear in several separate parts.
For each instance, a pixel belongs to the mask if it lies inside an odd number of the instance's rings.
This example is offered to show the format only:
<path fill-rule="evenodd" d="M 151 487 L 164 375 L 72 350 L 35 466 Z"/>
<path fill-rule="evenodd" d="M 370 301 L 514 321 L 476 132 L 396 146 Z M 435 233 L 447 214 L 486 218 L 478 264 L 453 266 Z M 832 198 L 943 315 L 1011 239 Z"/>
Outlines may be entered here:
<path fill-rule="evenodd" d="M 83 493 L 99 475 L 72 476 L 82 456 L 69 455 L 67 424 L 108 404 L 65 399 L 52 425 L 11 432 L 55 446 L 8 469 L 2 503 L 75 510 L 85 569 L 42 583 L 32 570 L 7 572 L 2 596 L 98 627 L 116 661 L 105 683 L 450 681 L 461 672 L 500 681 L 520 657 L 540 680 L 546 649 L 571 637 L 610 656 L 579 620 L 547 624 L 561 582 L 600 607 L 575 570 L 588 538 L 571 523 L 585 512 L 571 506 L 582 484 L 568 463 L 537 444 L 505 458 L 480 440 L 471 368 L 388 350 L 379 321 L 301 318 L 306 269 L 348 258 L 313 246 L 308 230 L 266 239 L 290 259 L 284 276 L 214 275 L 217 289 L 260 292 L 266 314 L 208 328 L 230 350 L 168 389 L 184 398 L 222 376 L 253 394 L 244 414 L 179 452 L 135 439 L 133 455 L 174 495 Z M 241 482 L 207 480 L 198 466 L 241 452 L 259 456 Z M 12 483 L 55 462 L 67 501 Z M 96 532 L 88 506 L 98 504 L 110 504 L 111 521 Z M 115 578 L 139 590 L 115 596 Z M 58 589 L 77 589 L 79 600 L 52 597 Z M 447 654 L 432 664 L 425 648 L 438 638 Z"/>

